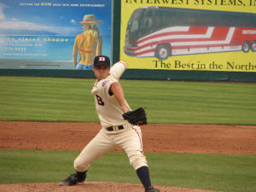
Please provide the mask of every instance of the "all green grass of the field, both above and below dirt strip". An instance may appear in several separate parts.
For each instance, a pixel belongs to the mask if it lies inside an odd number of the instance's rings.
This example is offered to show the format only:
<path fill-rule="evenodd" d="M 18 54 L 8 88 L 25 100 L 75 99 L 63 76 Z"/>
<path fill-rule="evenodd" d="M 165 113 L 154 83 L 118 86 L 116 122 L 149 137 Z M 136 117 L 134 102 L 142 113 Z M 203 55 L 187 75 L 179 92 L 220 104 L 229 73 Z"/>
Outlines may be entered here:
<path fill-rule="evenodd" d="M 98 121 L 94 79 L 0 77 L 0 120 Z M 149 123 L 256 125 L 256 85 L 121 80 Z M 79 152 L 0 150 L 0 183 L 59 182 Z M 154 184 L 256 191 L 256 155 L 146 154 Z M 118 161 L 118 165 L 113 165 Z M 50 177 L 49 177 L 50 176 Z M 89 181 L 139 183 L 124 153 L 90 167 Z"/>

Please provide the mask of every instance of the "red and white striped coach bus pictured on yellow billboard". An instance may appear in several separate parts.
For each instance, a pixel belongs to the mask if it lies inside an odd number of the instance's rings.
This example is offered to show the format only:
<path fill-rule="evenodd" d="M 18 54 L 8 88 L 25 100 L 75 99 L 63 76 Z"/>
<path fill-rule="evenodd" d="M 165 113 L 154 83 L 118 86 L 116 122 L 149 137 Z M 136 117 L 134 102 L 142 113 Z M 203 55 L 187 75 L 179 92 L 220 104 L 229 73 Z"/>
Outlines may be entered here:
<path fill-rule="evenodd" d="M 172 55 L 256 51 L 256 14 L 169 7 L 136 9 L 125 34 L 126 55 Z"/>

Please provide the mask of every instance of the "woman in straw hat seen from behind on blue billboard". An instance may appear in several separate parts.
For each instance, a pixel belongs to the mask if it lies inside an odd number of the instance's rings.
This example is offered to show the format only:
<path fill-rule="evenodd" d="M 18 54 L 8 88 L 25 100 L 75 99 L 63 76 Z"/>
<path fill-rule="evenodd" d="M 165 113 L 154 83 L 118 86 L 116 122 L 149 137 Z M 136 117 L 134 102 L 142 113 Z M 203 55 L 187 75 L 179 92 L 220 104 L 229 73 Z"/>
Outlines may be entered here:
<path fill-rule="evenodd" d="M 84 32 L 77 35 L 73 46 L 73 67 L 78 70 L 91 70 L 96 55 L 102 55 L 102 36 L 96 25 L 103 24 L 96 20 L 95 15 L 84 15 L 79 22 L 84 27 Z M 78 63 L 78 53 L 80 60 Z"/>

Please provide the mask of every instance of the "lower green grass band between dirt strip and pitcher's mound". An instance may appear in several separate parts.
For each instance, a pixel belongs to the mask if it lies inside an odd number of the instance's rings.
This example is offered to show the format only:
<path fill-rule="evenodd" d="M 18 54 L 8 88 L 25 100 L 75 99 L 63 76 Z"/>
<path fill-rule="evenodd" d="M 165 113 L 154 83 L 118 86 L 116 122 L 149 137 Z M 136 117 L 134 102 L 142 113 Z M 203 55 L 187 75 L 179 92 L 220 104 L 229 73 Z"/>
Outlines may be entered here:
<path fill-rule="evenodd" d="M 60 182 L 79 152 L 0 150 L 0 183 Z M 146 154 L 154 184 L 221 191 L 256 191 L 256 155 Z M 118 162 L 118 163 L 116 163 Z M 125 153 L 90 166 L 88 181 L 140 183 Z"/>

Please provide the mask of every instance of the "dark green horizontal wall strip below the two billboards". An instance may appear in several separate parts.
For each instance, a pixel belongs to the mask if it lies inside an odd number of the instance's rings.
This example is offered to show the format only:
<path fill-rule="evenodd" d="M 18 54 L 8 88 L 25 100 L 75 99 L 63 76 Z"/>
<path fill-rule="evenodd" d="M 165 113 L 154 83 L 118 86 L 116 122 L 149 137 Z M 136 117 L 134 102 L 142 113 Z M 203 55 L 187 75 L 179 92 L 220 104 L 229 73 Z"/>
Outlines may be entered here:
<path fill-rule="evenodd" d="M 91 71 L 74 70 L 45 70 L 45 69 L 1 69 L 3 76 L 26 77 L 56 77 L 56 78 L 84 78 L 94 79 Z M 166 71 L 127 69 L 122 79 L 144 80 L 175 80 L 175 81 L 205 81 L 205 82 L 243 82 L 255 83 L 255 73 L 230 72 L 199 72 L 199 71 Z"/>

